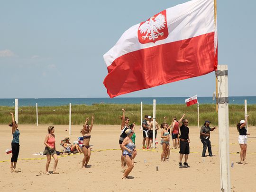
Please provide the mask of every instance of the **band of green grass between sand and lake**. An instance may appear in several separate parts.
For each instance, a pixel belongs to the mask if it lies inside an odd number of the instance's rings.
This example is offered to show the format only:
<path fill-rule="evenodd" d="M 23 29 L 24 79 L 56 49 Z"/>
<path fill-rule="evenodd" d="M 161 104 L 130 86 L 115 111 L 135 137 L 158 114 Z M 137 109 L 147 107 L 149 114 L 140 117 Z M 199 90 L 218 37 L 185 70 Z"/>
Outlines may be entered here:
<path fill-rule="evenodd" d="M 95 124 L 101 125 L 119 125 L 121 123 L 119 116 L 122 115 L 121 109 L 126 109 L 126 116 L 130 118 L 131 123 L 140 124 L 140 104 L 98 104 L 98 105 L 73 105 L 72 106 L 72 124 L 80 125 L 84 123 L 86 117 L 95 117 Z M 14 107 L 0 106 L 0 124 L 9 124 L 11 116 L 9 111 L 15 112 Z M 229 105 L 229 125 L 236 125 L 241 119 L 244 119 L 243 105 Z M 249 125 L 256 125 L 256 105 L 247 106 L 250 115 Z M 153 105 L 143 105 L 143 115 L 153 116 Z M 156 121 L 163 123 L 164 116 L 167 122 L 171 122 L 176 116 L 178 119 L 186 114 L 189 119 L 189 125 L 197 125 L 197 105 L 190 107 L 184 104 L 156 105 Z M 19 107 L 18 112 L 20 124 L 36 124 L 36 107 Z M 218 114 L 216 105 L 200 105 L 200 125 L 205 120 L 210 120 L 212 125 L 218 125 Z M 89 121 L 90 122 L 90 121 Z M 38 107 L 38 124 L 47 125 L 68 125 L 69 124 L 69 105 Z"/>

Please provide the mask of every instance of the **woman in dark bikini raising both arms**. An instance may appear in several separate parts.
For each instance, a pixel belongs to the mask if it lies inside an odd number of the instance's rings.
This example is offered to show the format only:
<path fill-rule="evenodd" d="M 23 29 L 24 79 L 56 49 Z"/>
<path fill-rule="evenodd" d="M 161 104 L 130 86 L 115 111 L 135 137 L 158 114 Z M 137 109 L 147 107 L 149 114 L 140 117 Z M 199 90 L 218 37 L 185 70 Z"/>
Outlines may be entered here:
<path fill-rule="evenodd" d="M 91 129 L 93 126 L 93 120 L 94 117 L 91 117 L 91 126 L 87 124 L 89 121 L 89 117 L 86 118 L 86 121 L 82 128 L 82 136 L 83 136 L 83 145 L 82 145 L 82 152 L 84 155 L 84 158 L 82 159 L 82 168 L 86 168 L 90 157 L 91 157 L 91 148 L 90 148 L 90 139 L 91 139 Z"/>

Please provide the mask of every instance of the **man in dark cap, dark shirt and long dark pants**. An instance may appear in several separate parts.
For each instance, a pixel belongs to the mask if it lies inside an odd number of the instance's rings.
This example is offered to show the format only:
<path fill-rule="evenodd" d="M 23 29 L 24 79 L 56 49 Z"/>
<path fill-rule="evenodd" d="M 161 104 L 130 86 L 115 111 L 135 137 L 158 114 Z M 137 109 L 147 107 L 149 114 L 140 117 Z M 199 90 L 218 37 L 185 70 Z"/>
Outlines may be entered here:
<path fill-rule="evenodd" d="M 214 131 L 217 127 L 210 128 L 210 121 L 205 121 L 200 130 L 200 139 L 203 144 L 202 157 L 205 157 L 206 149 L 208 147 L 209 156 L 212 157 L 211 144 L 210 144 L 210 132 Z"/>

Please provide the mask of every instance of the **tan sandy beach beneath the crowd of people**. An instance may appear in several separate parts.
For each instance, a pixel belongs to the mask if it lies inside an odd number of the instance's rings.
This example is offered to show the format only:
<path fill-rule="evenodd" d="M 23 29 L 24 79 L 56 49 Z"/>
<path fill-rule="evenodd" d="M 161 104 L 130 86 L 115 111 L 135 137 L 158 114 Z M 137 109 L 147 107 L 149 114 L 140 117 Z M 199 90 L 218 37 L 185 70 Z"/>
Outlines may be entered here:
<path fill-rule="evenodd" d="M 190 168 L 180 169 L 179 150 L 172 149 L 170 159 L 160 162 L 162 146 L 160 130 L 157 134 L 159 144 L 155 150 L 142 150 L 142 132 L 136 127 L 137 157 L 130 178 L 122 180 L 120 166 L 119 134 L 120 125 L 94 125 L 91 132 L 92 153 L 87 169 L 81 169 L 83 154 L 59 157 L 57 171 L 59 175 L 40 175 L 45 171 L 46 156 L 33 155 L 45 148 L 44 138 L 48 125 L 19 125 L 20 152 L 17 168 L 19 173 L 10 173 L 11 154 L 5 150 L 11 148 L 11 128 L 0 125 L 0 191 L 1 192 L 61 192 L 69 191 L 177 191 L 177 192 L 219 192 L 219 132 L 211 132 L 213 157 L 201 158 L 202 143 L 197 127 L 190 127 L 190 149 L 188 163 Z M 72 126 L 69 135 L 68 125 L 55 125 L 56 149 L 62 150 L 61 139 L 69 136 L 71 142 L 81 136 L 82 125 Z M 240 151 L 236 127 L 229 128 L 230 175 L 232 192 L 255 191 L 256 127 L 249 127 L 247 164 L 238 164 Z M 171 145 L 172 146 L 172 145 Z M 208 152 L 206 152 L 208 155 Z M 38 158 L 38 159 L 37 159 Z M 146 163 L 144 160 L 146 159 Z M 6 161 L 8 160 L 8 161 Z M 52 159 L 49 170 L 53 170 Z M 234 167 L 231 167 L 231 162 Z M 156 171 L 156 166 L 159 171 Z M 38 176 L 37 176 L 38 175 Z"/>

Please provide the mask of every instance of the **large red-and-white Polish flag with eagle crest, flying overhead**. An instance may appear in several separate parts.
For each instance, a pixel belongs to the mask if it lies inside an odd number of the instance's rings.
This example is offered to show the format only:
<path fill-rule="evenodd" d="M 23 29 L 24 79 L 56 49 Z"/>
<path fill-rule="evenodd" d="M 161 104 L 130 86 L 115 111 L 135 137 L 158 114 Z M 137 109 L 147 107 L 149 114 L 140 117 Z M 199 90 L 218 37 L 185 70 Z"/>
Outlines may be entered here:
<path fill-rule="evenodd" d="M 214 19 L 214 0 L 191 0 L 129 28 L 103 56 L 110 98 L 217 70 Z"/>

